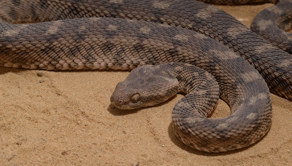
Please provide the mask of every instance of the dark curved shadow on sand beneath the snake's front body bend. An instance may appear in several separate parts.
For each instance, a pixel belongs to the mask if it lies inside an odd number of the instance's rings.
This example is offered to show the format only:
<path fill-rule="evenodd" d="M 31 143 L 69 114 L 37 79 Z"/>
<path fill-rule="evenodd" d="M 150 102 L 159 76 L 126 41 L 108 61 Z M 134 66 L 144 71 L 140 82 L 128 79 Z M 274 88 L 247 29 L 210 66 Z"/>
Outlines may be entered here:
<path fill-rule="evenodd" d="M 258 140 L 256 143 L 249 145 L 248 147 L 244 147 L 241 149 L 236 149 L 236 150 L 231 150 L 231 151 L 226 151 L 226 152 L 218 152 L 218 153 L 214 153 L 214 152 L 204 152 L 204 151 L 200 151 L 194 148 L 191 148 L 187 145 L 185 145 L 184 143 L 182 143 L 175 135 L 174 133 L 174 127 L 173 127 L 173 122 L 171 122 L 168 126 L 168 135 L 171 139 L 171 141 L 177 145 L 178 147 L 180 147 L 182 150 L 185 150 L 189 153 L 193 153 L 193 154 L 197 154 L 197 155 L 205 155 L 205 156 L 224 156 L 224 155 L 229 155 L 229 154 L 234 154 L 234 153 L 239 153 L 241 151 L 247 150 L 249 148 L 253 148 L 253 146 L 255 146 L 258 142 L 262 141 L 262 139 L 264 139 L 267 134 L 269 133 L 269 131 L 260 139 Z"/>

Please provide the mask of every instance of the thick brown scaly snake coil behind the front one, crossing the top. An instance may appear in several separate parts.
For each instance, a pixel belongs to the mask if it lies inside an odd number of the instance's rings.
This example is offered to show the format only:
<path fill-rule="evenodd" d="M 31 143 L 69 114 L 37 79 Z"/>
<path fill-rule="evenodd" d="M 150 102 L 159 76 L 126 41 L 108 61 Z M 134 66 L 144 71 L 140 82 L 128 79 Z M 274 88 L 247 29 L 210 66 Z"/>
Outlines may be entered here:
<path fill-rule="evenodd" d="M 0 17 L 3 21 L 10 23 L 47 22 L 82 17 L 115 17 L 188 28 L 227 45 L 261 73 L 270 92 L 292 100 L 291 55 L 272 46 L 226 12 L 208 4 L 186 0 L 174 2 L 4 0 L 0 2 L 0 7 L 2 8 Z M 52 61 L 54 60 L 50 59 L 48 63 Z M 4 63 L 9 63 L 9 65 Z M 11 63 L 15 62 L 0 62 L 2 66 L 12 66 Z M 55 65 L 55 62 L 51 65 Z"/>

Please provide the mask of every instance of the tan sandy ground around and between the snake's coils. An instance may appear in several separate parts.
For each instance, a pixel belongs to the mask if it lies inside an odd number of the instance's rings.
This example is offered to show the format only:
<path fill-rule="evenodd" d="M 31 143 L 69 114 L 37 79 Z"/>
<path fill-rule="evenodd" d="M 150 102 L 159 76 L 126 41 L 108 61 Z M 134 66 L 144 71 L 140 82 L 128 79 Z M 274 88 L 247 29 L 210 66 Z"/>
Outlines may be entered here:
<path fill-rule="evenodd" d="M 223 7 L 248 27 L 271 4 Z M 159 106 L 121 111 L 110 105 L 128 72 L 53 72 L 0 68 L 1 165 L 288 165 L 292 102 L 271 95 L 272 127 L 255 145 L 206 153 L 174 135 L 177 95 Z M 212 117 L 230 114 L 220 102 Z"/>

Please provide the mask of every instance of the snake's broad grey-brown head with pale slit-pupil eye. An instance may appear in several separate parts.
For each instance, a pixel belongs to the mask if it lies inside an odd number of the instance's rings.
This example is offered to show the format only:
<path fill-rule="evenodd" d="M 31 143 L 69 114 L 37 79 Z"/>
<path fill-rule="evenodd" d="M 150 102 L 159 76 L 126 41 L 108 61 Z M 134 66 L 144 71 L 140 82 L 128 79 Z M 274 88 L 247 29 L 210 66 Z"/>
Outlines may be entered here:
<path fill-rule="evenodd" d="M 124 81 L 119 82 L 110 100 L 121 110 L 131 110 L 162 103 L 178 89 L 178 80 L 167 69 L 145 65 L 133 69 Z"/>

